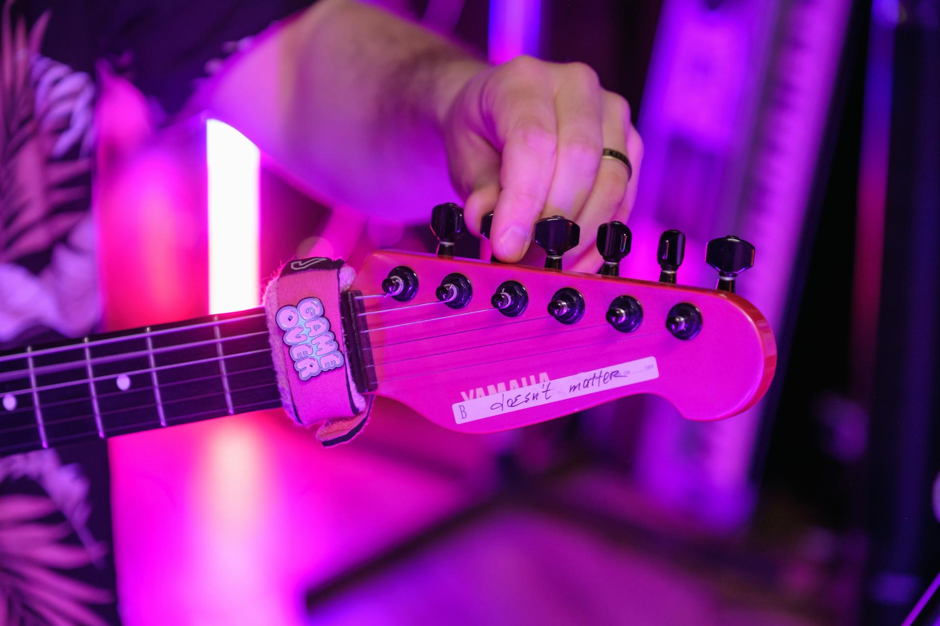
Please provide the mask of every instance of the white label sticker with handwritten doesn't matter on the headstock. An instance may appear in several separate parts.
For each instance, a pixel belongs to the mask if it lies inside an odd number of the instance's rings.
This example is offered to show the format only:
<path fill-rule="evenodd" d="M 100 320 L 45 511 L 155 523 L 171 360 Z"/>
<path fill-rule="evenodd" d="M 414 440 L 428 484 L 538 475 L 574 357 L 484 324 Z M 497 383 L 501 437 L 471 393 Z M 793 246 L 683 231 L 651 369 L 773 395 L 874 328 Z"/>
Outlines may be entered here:
<path fill-rule="evenodd" d="M 490 395 L 464 400 L 453 405 L 454 420 L 459 424 L 468 421 L 492 418 L 495 415 L 512 413 L 532 406 L 550 405 L 553 402 L 568 400 L 588 393 L 597 393 L 606 389 L 626 387 L 659 378 L 656 359 L 636 359 L 608 365 L 599 370 L 572 374 L 564 378 L 547 380 L 528 387 L 509 389 Z"/>

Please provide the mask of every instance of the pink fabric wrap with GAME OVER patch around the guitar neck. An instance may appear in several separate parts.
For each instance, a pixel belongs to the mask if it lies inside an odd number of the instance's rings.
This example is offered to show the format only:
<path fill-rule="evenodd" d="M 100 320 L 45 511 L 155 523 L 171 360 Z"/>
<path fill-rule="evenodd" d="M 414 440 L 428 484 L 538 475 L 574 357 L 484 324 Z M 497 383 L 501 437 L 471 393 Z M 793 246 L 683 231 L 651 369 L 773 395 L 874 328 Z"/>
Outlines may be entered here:
<path fill-rule="evenodd" d="M 358 435 L 372 408 L 352 381 L 341 326 L 340 294 L 354 278 L 341 260 L 294 259 L 264 292 L 281 402 L 298 424 L 317 426 L 324 446 Z"/>

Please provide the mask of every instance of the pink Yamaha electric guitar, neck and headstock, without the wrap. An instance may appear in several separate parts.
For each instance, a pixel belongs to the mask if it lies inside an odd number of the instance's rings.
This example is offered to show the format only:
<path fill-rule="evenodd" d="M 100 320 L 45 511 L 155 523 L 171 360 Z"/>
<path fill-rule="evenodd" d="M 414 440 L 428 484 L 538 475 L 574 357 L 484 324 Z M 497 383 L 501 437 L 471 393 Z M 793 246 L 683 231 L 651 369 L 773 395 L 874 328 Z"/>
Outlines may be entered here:
<path fill-rule="evenodd" d="M 620 222 L 601 226 L 603 267 L 588 274 L 561 269 L 578 229 L 558 217 L 535 230 L 546 268 L 455 258 L 462 214 L 443 207 L 437 254 L 373 252 L 343 295 L 345 359 L 361 393 L 491 433 L 635 393 L 717 420 L 769 387 L 773 332 L 733 293 L 753 264 L 745 241 L 713 240 L 719 288 L 705 289 L 675 282 L 679 231 L 660 241 L 660 281 L 638 281 L 617 275 L 630 250 Z M 0 353 L 4 454 L 279 405 L 261 307 Z"/>

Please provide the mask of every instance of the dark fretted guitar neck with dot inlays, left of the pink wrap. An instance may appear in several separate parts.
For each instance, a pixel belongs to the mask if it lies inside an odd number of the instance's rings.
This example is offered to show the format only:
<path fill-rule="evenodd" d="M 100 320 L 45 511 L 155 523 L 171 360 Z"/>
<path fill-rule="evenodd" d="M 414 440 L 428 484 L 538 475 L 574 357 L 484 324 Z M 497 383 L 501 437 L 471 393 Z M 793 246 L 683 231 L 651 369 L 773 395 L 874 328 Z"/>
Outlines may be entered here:
<path fill-rule="evenodd" d="M 280 404 L 261 308 L 0 353 L 0 454 Z"/>

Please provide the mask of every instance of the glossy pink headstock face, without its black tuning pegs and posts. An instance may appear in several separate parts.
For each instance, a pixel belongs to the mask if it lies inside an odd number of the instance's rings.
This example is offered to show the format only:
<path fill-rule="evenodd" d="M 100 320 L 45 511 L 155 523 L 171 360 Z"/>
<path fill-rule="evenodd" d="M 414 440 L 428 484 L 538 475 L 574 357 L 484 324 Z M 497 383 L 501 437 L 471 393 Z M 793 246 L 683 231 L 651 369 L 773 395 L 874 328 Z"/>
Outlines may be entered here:
<path fill-rule="evenodd" d="M 662 396 L 691 420 L 718 420 L 758 402 L 774 376 L 774 334 L 760 312 L 734 294 L 387 251 L 368 256 L 352 288 L 381 294 L 381 282 L 398 266 L 418 276 L 414 299 L 362 300 L 375 393 L 452 430 L 509 430 L 635 393 Z M 473 285 L 473 298 L 459 310 L 434 296 L 452 272 Z M 510 280 L 521 282 L 529 298 L 517 317 L 490 302 Z M 546 310 L 562 287 L 585 298 L 585 314 L 572 325 Z M 642 305 L 643 322 L 633 332 L 620 332 L 605 319 L 619 296 Z M 702 317 L 701 331 L 686 341 L 666 329 L 668 311 L 682 302 L 695 305 Z"/>

